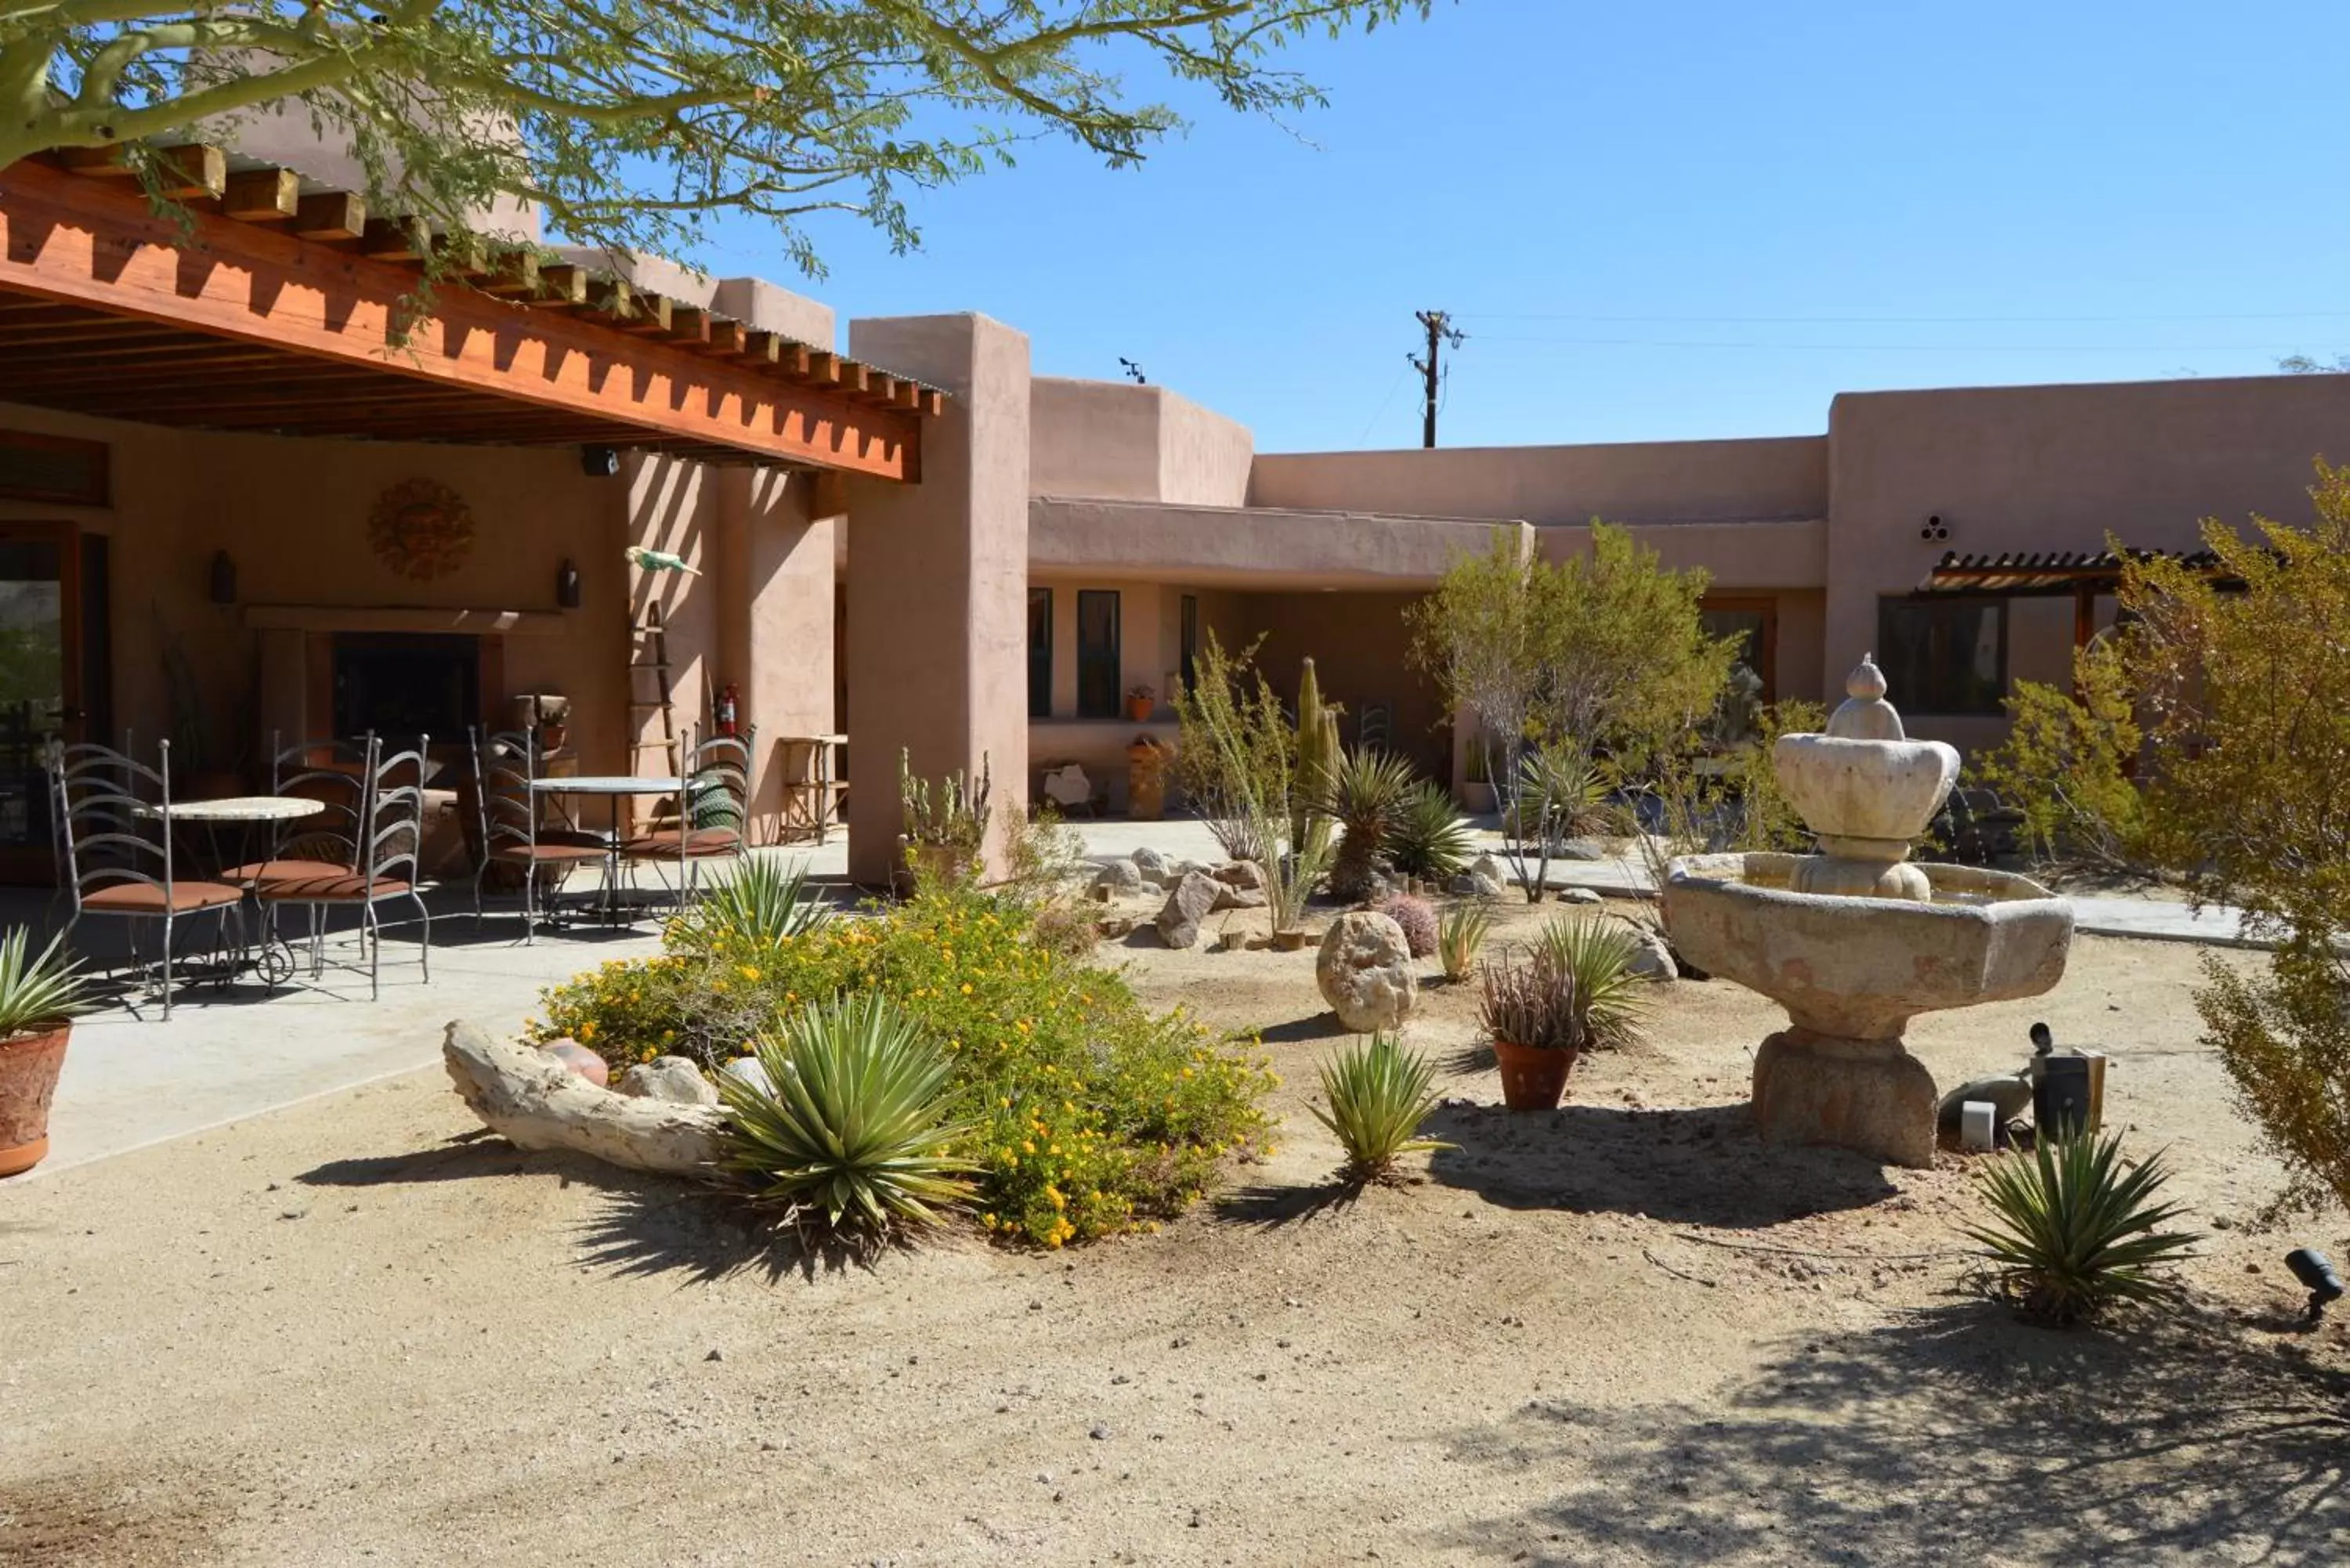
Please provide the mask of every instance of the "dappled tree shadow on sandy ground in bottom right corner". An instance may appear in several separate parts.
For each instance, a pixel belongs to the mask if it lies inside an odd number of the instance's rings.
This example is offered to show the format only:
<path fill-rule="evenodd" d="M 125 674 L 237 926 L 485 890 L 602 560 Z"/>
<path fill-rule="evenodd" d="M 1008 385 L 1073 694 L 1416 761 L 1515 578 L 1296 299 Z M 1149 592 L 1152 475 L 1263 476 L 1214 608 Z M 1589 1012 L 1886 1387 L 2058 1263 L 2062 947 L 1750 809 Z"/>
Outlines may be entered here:
<path fill-rule="evenodd" d="M 2054 1333 L 1936 1307 L 1791 1340 L 1704 1410 L 1530 1401 L 1450 1458 L 1539 1500 L 1448 1556 L 1560 1568 L 2315 1568 L 2350 1540 L 2350 1375 L 2218 1314 Z"/>

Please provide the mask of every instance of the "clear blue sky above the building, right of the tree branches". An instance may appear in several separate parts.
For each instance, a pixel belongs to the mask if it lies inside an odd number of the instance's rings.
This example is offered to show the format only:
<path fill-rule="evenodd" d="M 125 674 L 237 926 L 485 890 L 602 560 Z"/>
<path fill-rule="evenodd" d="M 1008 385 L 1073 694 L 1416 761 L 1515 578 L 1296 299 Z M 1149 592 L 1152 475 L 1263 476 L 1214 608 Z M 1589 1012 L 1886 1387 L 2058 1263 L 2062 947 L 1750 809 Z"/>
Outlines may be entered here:
<path fill-rule="evenodd" d="M 2331 5 L 1462 0 L 1215 108 L 813 230 L 851 315 L 985 310 L 1264 451 L 1410 447 L 1412 310 L 1469 331 L 1448 447 L 1795 435 L 1838 390 L 2263 374 L 2350 350 Z M 1161 94 L 1152 94 L 1161 96 Z M 790 273 L 757 228 L 707 256 Z"/>

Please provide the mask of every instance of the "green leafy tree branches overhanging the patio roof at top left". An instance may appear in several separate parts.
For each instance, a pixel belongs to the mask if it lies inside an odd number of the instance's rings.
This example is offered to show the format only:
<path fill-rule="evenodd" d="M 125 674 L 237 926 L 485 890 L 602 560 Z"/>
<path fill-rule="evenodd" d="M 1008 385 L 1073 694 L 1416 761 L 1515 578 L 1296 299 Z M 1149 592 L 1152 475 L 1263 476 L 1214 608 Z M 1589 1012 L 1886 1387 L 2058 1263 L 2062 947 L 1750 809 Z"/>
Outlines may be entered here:
<path fill-rule="evenodd" d="M 1321 103 L 1288 45 L 1434 0 L 0 0 L 0 167 L 157 148 L 291 115 L 435 228 L 538 202 L 578 244 L 691 261 L 724 214 L 916 242 L 907 190 L 1062 136 L 1109 165 L 1182 115 L 1123 73 L 1234 110 Z"/>

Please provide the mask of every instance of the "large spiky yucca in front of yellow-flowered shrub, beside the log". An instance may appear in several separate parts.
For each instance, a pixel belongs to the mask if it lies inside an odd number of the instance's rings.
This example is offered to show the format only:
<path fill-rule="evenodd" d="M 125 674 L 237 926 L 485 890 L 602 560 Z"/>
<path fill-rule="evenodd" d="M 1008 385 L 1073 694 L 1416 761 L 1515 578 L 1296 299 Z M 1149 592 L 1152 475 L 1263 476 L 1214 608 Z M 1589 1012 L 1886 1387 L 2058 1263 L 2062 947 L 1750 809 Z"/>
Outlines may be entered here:
<path fill-rule="evenodd" d="M 754 1041 L 768 1088 L 719 1074 L 726 1166 L 787 1222 L 867 1248 L 971 1197 L 949 1150 L 947 1058 L 895 1001 L 865 992 L 806 1009 Z"/>

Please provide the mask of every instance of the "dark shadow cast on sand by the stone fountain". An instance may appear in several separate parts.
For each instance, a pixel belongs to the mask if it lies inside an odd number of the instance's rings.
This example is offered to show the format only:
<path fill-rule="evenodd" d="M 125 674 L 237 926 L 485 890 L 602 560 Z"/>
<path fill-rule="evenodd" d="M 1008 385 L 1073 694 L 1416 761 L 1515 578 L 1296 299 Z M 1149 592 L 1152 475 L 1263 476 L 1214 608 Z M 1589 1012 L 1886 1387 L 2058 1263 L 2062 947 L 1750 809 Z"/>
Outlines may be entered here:
<path fill-rule="evenodd" d="M 1899 1192 L 1859 1154 L 1765 1145 L 1744 1100 L 1553 1112 L 1448 1100 L 1422 1124 L 1422 1135 L 1457 1145 L 1429 1159 L 1438 1182 L 1504 1208 L 1748 1229 L 1866 1208 Z"/>

